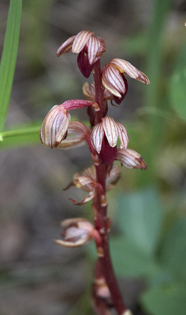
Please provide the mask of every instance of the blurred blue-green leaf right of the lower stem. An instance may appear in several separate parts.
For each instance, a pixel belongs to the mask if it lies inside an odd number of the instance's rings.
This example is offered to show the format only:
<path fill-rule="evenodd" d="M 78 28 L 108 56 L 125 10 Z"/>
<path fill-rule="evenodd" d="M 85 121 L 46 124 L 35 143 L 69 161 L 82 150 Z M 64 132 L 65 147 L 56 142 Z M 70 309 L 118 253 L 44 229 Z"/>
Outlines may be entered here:
<path fill-rule="evenodd" d="M 155 253 L 163 209 L 155 189 L 143 189 L 118 198 L 118 224 L 124 234 L 146 255 Z"/>

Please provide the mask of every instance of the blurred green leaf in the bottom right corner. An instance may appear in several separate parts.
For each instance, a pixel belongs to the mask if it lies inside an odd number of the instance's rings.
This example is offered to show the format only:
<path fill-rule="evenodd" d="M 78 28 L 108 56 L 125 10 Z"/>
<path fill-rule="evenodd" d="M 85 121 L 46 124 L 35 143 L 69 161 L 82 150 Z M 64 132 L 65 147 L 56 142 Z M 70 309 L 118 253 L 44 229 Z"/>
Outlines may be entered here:
<path fill-rule="evenodd" d="M 149 315 L 186 315 L 186 284 L 151 288 L 140 300 Z"/>

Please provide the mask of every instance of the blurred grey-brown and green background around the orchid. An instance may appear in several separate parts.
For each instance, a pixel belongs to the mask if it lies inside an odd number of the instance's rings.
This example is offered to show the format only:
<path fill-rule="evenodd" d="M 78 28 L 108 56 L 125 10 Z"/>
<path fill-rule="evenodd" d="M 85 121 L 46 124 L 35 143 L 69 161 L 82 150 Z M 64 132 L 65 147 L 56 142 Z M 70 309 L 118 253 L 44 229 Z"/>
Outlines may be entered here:
<path fill-rule="evenodd" d="M 8 9 L 1 0 L 1 52 Z M 91 165 L 90 154 L 86 147 L 45 148 L 38 135 L 52 106 L 84 98 L 77 56 L 56 57 L 81 30 L 104 38 L 102 66 L 122 58 L 151 81 L 127 79 L 123 103 L 109 104 L 109 116 L 126 126 L 129 147 L 148 166 L 123 167 L 108 193 L 111 253 L 126 305 L 134 315 L 186 314 L 185 21 L 186 0 L 23 1 L 6 129 L 36 132 L 0 143 L 0 315 L 93 314 L 93 244 L 65 249 L 53 240 L 62 220 L 93 219 L 91 203 L 68 200 L 80 200 L 82 191 L 63 191 Z M 86 110 L 73 115 L 88 119 Z"/>

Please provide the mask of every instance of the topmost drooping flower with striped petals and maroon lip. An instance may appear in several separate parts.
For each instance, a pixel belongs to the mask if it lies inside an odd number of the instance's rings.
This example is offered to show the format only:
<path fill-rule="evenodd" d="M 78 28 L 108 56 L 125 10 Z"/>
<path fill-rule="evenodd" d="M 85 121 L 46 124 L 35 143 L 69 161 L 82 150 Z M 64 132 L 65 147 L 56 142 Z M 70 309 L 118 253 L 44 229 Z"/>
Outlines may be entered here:
<path fill-rule="evenodd" d="M 105 42 L 96 37 L 94 32 L 80 31 L 77 35 L 68 38 L 57 51 L 57 56 L 68 52 L 78 54 L 78 67 L 85 78 L 89 78 L 93 64 L 105 52 Z"/>

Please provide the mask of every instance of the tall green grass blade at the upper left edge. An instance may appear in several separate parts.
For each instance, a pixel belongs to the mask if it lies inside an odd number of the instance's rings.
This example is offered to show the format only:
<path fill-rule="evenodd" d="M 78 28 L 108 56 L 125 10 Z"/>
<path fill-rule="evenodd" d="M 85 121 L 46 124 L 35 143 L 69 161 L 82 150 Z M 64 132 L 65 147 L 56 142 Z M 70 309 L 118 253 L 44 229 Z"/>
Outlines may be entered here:
<path fill-rule="evenodd" d="M 4 128 L 12 91 L 19 42 L 21 11 L 22 0 L 11 0 L 0 62 L 0 131 Z"/>

